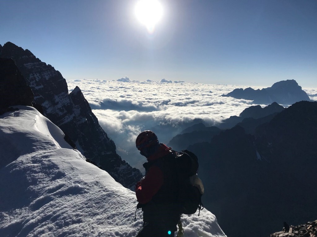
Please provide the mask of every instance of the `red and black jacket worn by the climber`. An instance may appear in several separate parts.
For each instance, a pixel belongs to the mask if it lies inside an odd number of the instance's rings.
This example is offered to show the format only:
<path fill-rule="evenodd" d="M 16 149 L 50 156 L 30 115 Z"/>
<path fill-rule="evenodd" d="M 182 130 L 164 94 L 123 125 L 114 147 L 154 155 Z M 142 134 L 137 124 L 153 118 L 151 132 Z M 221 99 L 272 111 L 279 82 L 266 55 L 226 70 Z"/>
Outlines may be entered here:
<path fill-rule="evenodd" d="M 176 225 L 179 220 L 175 156 L 171 148 L 160 143 L 157 152 L 143 164 L 146 175 L 137 183 L 135 193 L 143 210 L 144 222 Z"/>

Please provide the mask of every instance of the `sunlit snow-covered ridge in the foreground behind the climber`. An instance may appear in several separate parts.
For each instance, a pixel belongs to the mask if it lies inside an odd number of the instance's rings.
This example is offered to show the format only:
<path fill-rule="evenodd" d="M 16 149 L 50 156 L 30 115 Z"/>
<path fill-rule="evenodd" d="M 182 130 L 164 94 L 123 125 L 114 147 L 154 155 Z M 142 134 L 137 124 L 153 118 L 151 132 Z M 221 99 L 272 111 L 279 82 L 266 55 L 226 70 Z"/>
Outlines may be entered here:
<path fill-rule="evenodd" d="M 0 116 L 1 236 L 133 237 L 136 198 L 85 161 L 36 109 Z M 208 210 L 182 217 L 185 237 L 225 236 Z"/>

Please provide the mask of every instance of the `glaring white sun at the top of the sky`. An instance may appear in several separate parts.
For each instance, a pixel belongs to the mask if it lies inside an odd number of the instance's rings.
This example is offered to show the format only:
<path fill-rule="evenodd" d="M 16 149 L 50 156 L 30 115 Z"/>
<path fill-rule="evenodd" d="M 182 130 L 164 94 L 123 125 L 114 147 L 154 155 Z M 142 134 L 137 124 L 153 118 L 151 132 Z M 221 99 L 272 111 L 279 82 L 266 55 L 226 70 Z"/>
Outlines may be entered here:
<path fill-rule="evenodd" d="M 163 15 L 163 8 L 157 0 L 139 0 L 135 6 L 135 15 L 149 33 L 154 32 L 155 25 Z"/>

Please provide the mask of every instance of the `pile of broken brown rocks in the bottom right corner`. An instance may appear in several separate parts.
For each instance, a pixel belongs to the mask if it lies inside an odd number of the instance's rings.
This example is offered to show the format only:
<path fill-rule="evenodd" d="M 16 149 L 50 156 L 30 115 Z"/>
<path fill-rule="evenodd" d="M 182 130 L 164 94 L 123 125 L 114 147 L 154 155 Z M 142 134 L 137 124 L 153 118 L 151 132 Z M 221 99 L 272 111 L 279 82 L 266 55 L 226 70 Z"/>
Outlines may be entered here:
<path fill-rule="evenodd" d="M 270 237 L 316 237 L 317 236 L 317 220 L 307 222 L 303 225 L 289 226 L 284 222 L 282 231 L 270 234 Z"/>

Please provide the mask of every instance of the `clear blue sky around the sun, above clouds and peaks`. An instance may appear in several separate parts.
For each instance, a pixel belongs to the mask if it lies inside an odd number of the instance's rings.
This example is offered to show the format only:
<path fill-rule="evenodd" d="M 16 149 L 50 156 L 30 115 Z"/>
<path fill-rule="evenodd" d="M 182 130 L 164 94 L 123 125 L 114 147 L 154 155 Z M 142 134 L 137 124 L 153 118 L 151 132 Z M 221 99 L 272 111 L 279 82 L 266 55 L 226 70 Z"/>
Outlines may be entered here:
<path fill-rule="evenodd" d="M 317 85 L 316 0 L 161 0 L 149 34 L 136 0 L 0 1 L 0 44 L 66 79 Z"/>

